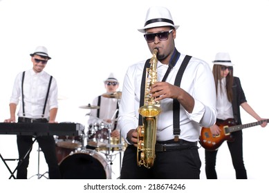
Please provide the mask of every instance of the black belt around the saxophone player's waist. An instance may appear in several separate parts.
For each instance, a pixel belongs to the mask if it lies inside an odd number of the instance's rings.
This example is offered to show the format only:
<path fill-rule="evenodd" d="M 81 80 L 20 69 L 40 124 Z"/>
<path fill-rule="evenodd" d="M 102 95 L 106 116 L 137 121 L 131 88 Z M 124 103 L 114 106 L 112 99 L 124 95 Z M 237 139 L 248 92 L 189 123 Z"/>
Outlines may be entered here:
<path fill-rule="evenodd" d="M 192 149 L 198 148 L 197 142 L 189 142 L 180 139 L 177 143 L 161 143 L 157 142 L 155 145 L 156 152 L 171 152 L 176 150 L 185 150 L 185 149 Z"/>

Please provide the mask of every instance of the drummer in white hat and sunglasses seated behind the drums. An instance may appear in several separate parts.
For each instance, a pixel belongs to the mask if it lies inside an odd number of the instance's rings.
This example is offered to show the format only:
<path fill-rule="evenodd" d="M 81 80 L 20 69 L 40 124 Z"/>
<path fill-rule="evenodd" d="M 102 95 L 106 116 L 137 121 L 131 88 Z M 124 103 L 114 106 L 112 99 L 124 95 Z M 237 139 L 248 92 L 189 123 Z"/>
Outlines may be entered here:
<path fill-rule="evenodd" d="M 92 105 L 100 106 L 98 109 L 91 110 L 91 116 L 98 117 L 106 123 L 111 123 L 111 136 L 120 137 L 120 132 L 117 129 L 117 118 L 119 109 L 120 92 L 117 92 L 119 87 L 118 79 L 115 79 L 113 73 L 104 81 L 106 93 L 95 97 Z"/>

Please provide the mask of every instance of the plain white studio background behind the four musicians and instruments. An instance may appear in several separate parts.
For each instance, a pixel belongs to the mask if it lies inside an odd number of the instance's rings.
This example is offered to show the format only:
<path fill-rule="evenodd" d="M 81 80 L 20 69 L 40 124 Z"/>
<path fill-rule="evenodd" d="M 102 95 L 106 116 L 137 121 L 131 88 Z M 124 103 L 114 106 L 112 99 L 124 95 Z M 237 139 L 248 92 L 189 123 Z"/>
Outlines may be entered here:
<path fill-rule="evenodd" d="M 45 70 L 57 79 L 61 99 L 57 121 L 82 123 L 87 128 L 89 110 L 79 106 L 105 92 L 103 81 L 110 72 L 122 83 L 129 65 L 151 57 L 137 30 L 150 6 L 171 11 L 180 26 L 179 52 L 203 59 L 211 67 L 216 52 L 230 52 L 234 75 L 240 77 L 248 103 L 261 117 L 269 118 L 268 0 L 0 0 L 0 121 L 10 116 L 8 104 L 16 74 L 32 68 L 29 54 L 37 45 L 45 45 L 52 57 Z M 243 123 L 256 121 L 243 110 L 241 114 Z M 268 134 L 268 127 L 243 130 L 249 179 L 268 179 Z M 201 179 L 206 179 L 203 148 L 199 152 Z M 5 158 L 17 157 L 15 136 L 0 135 L 0 153 Z M 8 165 L 13 169 L 16 163 Z M 235 179 L 226 143 L 219 150 L 216 170 L 219 179 Z M 46 172 L 43 159 L 41 172 Z M 28 177 L 37 174 L 36 144 L 28 173 Z M 0 179 L 8 177 L 0 161 Z"/>

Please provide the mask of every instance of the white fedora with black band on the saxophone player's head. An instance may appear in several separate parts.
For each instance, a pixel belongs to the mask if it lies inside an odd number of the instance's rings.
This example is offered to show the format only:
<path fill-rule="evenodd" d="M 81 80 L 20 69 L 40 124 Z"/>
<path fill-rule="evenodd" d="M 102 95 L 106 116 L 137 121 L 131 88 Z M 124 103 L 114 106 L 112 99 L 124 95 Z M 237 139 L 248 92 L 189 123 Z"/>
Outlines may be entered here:
<path fill-rule="evenodd" d="M 147 16 L 145 20 L 144 28 L 138 29 L 138 31 L 145 33 L 148 28 L 156 28 L 163 26 L 172 26 L 176 30 L 179 26 L 174 25 L 174 21 L 167 8 L 164 7 L 151 7 L 147 10 Z"/>

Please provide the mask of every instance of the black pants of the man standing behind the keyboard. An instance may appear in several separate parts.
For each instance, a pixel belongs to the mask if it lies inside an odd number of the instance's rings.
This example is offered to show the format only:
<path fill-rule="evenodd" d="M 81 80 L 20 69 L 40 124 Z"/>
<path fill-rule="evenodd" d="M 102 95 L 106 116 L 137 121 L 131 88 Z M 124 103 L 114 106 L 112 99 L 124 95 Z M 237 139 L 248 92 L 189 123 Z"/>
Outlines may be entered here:
<path fill-rule="evenodd" d="M 27 122 L 21 121 L 19 122 Z M 37 128 L 38 129 L 38 128 Z M 55 140 L 53 136 L 37 136 L 36 137 L 39 147 L 44 153 L 46 163 L 48 164 L 49 179 L 61 179 L 59 172 L 59 165 L 57 163 Z M 32 150 L 33 136 L 20 136 L 17 135 L 17 146 L 19 151 L 19 160 L 22 160 L 28 150 Z M 17 169 L 17 179 L 27 179 L 27 168 L 29 165 L 30 152 L 28 156 L 21 162 Z"/>

